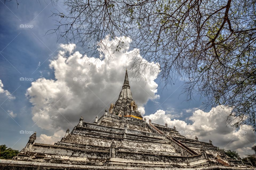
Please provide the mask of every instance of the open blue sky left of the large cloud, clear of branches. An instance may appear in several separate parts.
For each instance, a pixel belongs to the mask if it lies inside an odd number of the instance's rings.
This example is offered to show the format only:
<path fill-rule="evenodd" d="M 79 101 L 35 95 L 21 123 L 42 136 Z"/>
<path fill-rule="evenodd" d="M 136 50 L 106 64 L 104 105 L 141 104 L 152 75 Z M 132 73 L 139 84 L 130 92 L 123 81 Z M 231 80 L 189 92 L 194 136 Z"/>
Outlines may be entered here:
<path fill-rule="evenodd" d="M 47 3 L 47 2 L 46 2 Z M 53 71 L 49 69 L 49 59 L 54 57 L 53 52 L 58 48 L 55 36 L 44 36 L 46 31 L 53 27 L 54 21 L 50 10 L 60 8 L 53 6 L 50 1 L 46 4 L 36 1 L 6 3 L 1 1 L 1 56 L 0 79 L 4 89 L 13 93 L 14 100 L 6 99 L 1 95 L 1 107 L 17 113 L 15 122 L 1 108 L 1 144 L 8 147 L 22 149 L 29 138 L 29 134 L 20 134 L 20 130 L 31 129 L 34 125 L 31 119 L 31 103 L 26 98 L 26 89 L 31 86 L 30 81 L 19 81 L 20 77 L 29 77 L 34 80 L 40 76 L 53 79 Z M 33 28 L 20 28 L 20 24 L 33 24 Z M 46 45 L 47 44 L 47 45 Z M 38 66 L 38 63 L 42 63 Z M 42 73 L 40 73 L 42 71 Z M 50 72 L 48 75 L 47 72 Z M 33 131 L 44 133 L 44 130 L 35 125 Z"/>

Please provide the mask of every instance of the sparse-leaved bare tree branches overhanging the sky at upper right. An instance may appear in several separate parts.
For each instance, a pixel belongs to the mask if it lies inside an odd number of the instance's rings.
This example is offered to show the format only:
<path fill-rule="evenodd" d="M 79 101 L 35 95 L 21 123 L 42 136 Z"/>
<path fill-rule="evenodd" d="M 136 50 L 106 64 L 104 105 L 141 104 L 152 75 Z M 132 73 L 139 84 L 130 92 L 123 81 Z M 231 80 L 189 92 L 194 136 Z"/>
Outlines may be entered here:
<path fill-rule="evenodd" d="M 57 28 L 50 33 L 80 43 L 90 56 L 99 56 L 97 47 L 106 36 L 130 37 L 131 48 L 159 64 L 163 82 L 188 78 L 187 100 L 197 93 L 206 106 L 229 106 L 228 123 L 255 130 L 255 2 L 64 0 L 66 11 L 53 14 Z M 131 67 L 143 73 L 143 64 L 135 59 Z"/>

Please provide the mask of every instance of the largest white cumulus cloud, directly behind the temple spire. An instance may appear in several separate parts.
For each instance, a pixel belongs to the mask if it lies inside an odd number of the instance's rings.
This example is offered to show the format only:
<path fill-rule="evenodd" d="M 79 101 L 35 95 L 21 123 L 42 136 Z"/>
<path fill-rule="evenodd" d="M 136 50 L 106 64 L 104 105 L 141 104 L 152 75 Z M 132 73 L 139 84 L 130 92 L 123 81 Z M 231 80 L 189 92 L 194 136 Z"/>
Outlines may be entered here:
<path fill-rule="evenodd" d="M 124 48 L 116 51 L 114 47 L 120 40 L 124 42 Z M 106 38 L 103 43 L 107 49 L 99 49 L 102 52 L 99 58 L 82 55 L 75 50 L 74 44 L 61 44 L 62 49 L 50 62 L 55 79 L 37 79 L 27 89 L 26 95 L 33 104 L 32 119 L 37 122 L 36 125 L 60 134 L 60 130 L 72 129 L 77 125 L 81 116 L 84 121 L 92 122 L 96 115 L 103 115 L 110 103 L 115 103 L 118 99 L 125 69 L 135 58 L 153 66 L 146 66 L 145 74 L 134 79 L 130 74 L 132 70 L 128 69 L 133 99 L 139 111 L 145 114 L 143 105 L 149 99 L 159 97 L 155 94 L 158 85 L 154 81 L 159 67 L 142 59 L 138 49 L 129 50 L 130 42 L 129 38 Z M 40 136 L 44 142 L 49 138 L 52 137 Z"/>

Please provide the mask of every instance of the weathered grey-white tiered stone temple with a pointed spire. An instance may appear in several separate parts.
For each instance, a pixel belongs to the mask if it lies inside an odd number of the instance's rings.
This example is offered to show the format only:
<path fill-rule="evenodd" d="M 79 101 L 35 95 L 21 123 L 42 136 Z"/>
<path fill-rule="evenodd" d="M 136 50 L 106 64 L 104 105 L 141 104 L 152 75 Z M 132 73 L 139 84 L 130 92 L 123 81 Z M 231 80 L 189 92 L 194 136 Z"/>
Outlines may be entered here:
<path fill-rule="evenodd" d="M 232 160 L 223 150 L 197 137 L 188 139 L 175 127 L 141 116 L 133 100 L 127 70 L 122 90 L 109 110 L 94 123 L 79 119 L 54 145 L 36 143 L 36 133 L 1 169 L 255 169 Z"/>

